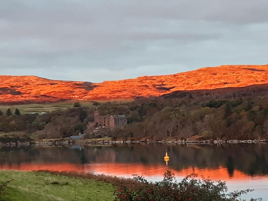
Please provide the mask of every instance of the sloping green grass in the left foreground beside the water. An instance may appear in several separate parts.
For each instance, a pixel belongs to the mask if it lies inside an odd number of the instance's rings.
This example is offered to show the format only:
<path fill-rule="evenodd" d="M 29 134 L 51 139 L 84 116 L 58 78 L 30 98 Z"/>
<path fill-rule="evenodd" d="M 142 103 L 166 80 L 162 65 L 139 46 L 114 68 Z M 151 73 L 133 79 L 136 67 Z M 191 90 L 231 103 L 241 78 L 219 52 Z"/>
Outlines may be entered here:
<path fill-rule="evenodd" d="M 0 200 L 12 201 L 108 201 L 113 200 L 114 187 L 100 181 L 57 176 L 44 172 L 0 170 L 0 183 L 14 179 L 6 187 L 8 195 Z"/>

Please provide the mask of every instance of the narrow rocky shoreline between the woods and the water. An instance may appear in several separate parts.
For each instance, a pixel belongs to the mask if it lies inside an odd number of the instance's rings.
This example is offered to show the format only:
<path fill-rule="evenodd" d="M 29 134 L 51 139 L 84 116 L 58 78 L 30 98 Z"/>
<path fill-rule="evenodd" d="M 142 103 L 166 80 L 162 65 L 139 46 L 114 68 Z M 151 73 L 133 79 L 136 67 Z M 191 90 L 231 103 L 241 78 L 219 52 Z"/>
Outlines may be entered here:
<path fill-rule="evenodd" d="M 248 143 L 248 144 L 256 144 L 256 143 L 268 143 L 268 140 L 152 140 L 152 139 L 146 139 L 146 140 L 104 140 L 104 141 L 91 141 L 83 140 L 83 141 L 75 141 L 75 143 L 78 144 L 85 144 L 85 145 L 107 145 L 107 144 L 134 144 L 134 143 L 171 143 L 171 144 L 237 144 L 237 143 Z M 0 147 L 13 147 L 13 146 L 29 146 L 29 145 L 64 145 L 69 144 L 69 142 L 63 142 L 59 140 L 47 140 L 47 141 L 37 141 L 37 142 L 0 142 Z"/>

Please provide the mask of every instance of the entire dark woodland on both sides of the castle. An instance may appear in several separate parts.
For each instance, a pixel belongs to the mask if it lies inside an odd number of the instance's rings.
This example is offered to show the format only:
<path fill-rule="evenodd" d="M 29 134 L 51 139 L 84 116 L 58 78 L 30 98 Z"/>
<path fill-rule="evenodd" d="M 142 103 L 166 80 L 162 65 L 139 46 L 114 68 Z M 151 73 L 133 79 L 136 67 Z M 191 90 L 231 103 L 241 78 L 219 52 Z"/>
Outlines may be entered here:
<path fill-rule="evenodd" d="M 31 139 L 65 138 L 79 132 L 87 138 L 267 139 L 267 90 L 267 86 L 197 90 L 128 103 L 107 101 L 98 106 L 101 114 L 124 114 L 128 125 L 97 132 L 87 129 L 94 121 L 94 108 L 83 103 L 42 115 L 0 111 L 0 131 Z"/>

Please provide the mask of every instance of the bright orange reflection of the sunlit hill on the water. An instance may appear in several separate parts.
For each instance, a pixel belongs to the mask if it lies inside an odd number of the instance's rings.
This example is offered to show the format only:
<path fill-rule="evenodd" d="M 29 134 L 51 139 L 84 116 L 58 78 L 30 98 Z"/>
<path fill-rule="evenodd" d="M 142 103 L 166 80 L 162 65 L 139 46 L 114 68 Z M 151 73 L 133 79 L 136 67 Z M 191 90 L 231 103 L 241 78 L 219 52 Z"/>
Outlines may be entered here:
<path fill-rule="evenodd" d="M 197 173 L 199 176 L 210 177 L 213 180 L 243 180 L 248 176 L 245 173 L 242 173 L 239 170 L 233 171 L 233 176 L 230 177 L 227 168 L 218 167 L 218 168 L 185 168 L 181 170 L 175 170 L 172 168 L 167 168 L 165 165 L 144 165 L 140 163 L 92 163 L 90 165 L 82 164 L 70 164 L 67 162 L 63 163 L 21 163 L 13 165 L 2 165 L 0 169 L 9 169 L 9 170 L 21 170 L 21 171 L 32 171 L 32 170 L 57 170 L 57 171 L 75 171 L 75 172 L 94 172 L 97 174 L 105 175 L 114 175 L 118 177 L 132 177 L 133 174 L 142 175 L 145 177 L 157 177 L 162 178 L 163 173 L 166 170 L 172 170 L 175 173 L 176 177 L 185 177 L 185 175 L 192 172 Z M 257 176 L 261 178 L 261 176 Z"/>

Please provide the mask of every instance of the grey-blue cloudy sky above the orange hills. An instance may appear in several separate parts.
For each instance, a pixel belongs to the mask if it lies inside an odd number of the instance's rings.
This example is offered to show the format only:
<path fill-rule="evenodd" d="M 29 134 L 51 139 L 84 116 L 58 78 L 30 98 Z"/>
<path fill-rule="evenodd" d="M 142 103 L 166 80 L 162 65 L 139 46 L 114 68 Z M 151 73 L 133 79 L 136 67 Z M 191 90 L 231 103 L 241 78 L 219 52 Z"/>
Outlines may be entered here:
<path fill-rule="evenodd" d="M 0 75 L 102 82 L 267 64 L 267 0 L 1 0 Z"/>

